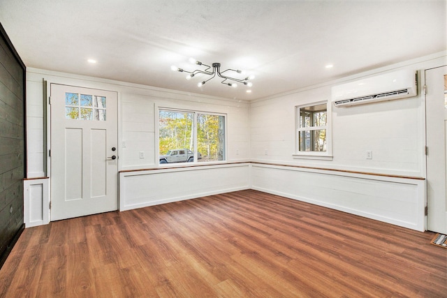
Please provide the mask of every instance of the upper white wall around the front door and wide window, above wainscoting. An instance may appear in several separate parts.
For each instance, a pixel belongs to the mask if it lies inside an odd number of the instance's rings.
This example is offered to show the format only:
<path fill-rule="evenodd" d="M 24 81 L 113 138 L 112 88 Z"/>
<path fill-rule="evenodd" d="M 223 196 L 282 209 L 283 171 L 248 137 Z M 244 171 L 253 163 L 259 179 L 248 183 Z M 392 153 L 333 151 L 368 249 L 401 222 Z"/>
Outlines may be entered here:
<path fill-rule="evenodd" d="M 243 100 L 189 94 L 96 77 L 28 68 L 28 178 L 44 176 L 43 80 L 48 83 L 118 92 L 119 170 L 140 170 L 158 166 L 155 161 L 155 141 L 158 137 L 155 135 L 154 124 L 156 106 L 226 114 L 228 161 L 246 161 L 249 158 L 249 104 Z M 48 110 L 50 111 L 50 107 Z M 140 151 L 145 152 L 145 158 L 140 158 Z"/>

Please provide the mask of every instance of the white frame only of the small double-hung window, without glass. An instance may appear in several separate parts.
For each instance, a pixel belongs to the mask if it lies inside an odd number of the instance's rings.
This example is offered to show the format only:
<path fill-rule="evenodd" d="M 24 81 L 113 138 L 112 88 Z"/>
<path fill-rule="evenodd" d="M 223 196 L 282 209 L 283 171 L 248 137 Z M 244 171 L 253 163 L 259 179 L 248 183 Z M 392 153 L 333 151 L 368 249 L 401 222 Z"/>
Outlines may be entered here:
<path fill-rule="evenodd" d="M 325 126 L 314 126 L 313 128 L 300 128 L 300 109 L 303 107 L 312 107 L 314 105 L 326 105 L 326 125 Z M 300 145 L 298 133 L 300 131 L 314 131 L 317 129 L 325 129 L 326 130 L 326 151 L 300 151 Z M 302 159 L 323 159 L 332 161 L 332 105 L 328 102 L 328 100 L 321 100 L 312 103 L 306 103 L 303 105 L 295 106 L 295 153 L 293 154 L 293 158 L 302 158 Z"/>

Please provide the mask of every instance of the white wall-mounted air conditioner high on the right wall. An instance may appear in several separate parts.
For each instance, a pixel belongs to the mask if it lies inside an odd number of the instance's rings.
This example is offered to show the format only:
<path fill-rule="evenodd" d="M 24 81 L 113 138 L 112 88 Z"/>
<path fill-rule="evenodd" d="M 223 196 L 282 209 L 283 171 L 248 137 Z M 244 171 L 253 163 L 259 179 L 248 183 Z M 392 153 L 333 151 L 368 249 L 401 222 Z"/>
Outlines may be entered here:
<path fill-rule="evenodd" d="M 413 70 L 398 70 L 332 87 L 332 103 L 336 107 L 377 103 L 416 95 L 417 76 Z"/>

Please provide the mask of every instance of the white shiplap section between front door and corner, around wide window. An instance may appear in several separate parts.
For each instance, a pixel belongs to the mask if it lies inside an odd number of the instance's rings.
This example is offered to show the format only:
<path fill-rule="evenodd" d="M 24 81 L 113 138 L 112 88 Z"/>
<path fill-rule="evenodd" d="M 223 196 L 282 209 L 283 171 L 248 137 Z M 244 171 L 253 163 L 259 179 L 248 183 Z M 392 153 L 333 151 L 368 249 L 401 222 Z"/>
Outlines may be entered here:
<path fill-rule="evenodd" d="M 246 161 L 249 158 L 249 110 L 247 103 L 226 100 L 191 100 L 168 98 L 166 95 L 147 96 L 122 94 L 122 170 L 157 167 L 156 114 L 159 107 L 226 114 L 227 160 Z M 123 147 L 124 145 L 124 147 Z M 140 151 L 145 158 L 140 158 Z"/>

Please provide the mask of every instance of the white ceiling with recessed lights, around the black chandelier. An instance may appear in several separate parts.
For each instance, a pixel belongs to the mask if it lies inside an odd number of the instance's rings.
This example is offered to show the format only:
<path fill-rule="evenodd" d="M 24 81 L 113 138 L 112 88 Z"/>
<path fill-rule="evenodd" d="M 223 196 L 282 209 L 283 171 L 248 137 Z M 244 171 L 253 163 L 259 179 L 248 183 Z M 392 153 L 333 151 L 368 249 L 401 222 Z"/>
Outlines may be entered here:
<path fill-rule="evenodd" d="M 0 22 L 27 67 L 240 100 L 447 48 L 445 0 L 2 0 Z M 253 87 L 170 70 L 191 57 Z"/>

